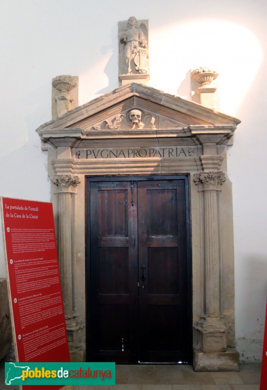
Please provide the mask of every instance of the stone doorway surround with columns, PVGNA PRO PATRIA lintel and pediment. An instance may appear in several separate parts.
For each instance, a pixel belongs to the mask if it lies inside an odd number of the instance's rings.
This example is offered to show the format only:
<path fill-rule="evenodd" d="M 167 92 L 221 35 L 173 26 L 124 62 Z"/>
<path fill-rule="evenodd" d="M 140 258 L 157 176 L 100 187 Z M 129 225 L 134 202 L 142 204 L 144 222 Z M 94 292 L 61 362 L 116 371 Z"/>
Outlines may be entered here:
<path fill-rule="evenodd" d="M 238 370 L 227 145 L 239 122 L 131 83 L 38 128 L 53 183 L 73 361 L 85 360 L 90 337 L 86 333 L 86 177 L 186 175 L 191 205 L 193 366 L 198 371 Z"/>

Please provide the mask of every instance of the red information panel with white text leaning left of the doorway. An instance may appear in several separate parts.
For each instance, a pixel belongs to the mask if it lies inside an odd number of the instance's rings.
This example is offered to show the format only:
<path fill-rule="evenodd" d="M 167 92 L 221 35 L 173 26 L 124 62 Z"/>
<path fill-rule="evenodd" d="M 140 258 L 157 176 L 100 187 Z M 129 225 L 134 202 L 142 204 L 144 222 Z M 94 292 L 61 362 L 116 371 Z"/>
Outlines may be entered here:
<path fill-rule="evenodd" d="M 17 361 L 69 362 L 52 203 L 5 197 L 0 203 Z"/>

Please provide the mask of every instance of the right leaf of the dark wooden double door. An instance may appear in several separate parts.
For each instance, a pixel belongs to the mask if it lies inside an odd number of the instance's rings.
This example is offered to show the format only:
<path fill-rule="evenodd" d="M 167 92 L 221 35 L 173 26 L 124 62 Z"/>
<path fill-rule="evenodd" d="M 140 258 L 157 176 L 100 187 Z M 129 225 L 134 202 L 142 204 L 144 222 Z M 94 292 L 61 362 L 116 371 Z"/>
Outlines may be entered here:
<path fill-rule="evenodd" d="M 178 362 L 188 349 L 185 221 L 184 180 L 138 183 L 141 362 Z"/>

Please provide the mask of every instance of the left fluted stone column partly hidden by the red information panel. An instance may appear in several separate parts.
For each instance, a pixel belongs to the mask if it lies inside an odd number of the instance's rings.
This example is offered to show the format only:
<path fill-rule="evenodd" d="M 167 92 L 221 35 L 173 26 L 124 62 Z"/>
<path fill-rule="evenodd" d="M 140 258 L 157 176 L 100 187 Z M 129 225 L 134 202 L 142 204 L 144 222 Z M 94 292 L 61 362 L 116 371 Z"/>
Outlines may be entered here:
<path fill-rule="evenodd" d="M 75 189 L 80 183 L 78 176 L 55 175 L 57 186 L 57 247 L 64 303 L 64 312 L 70 347 L 80 344 L 80 326 L 76 313 L 75 277 Z"/>

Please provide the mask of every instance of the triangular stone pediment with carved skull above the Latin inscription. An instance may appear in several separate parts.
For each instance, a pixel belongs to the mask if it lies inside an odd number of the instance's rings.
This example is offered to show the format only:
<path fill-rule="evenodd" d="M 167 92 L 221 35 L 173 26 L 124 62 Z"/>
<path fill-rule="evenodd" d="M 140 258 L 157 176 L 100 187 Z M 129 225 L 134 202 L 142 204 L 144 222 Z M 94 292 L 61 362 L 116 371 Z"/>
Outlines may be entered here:
<path fill-rule="evenodd" d="M 155 132 L 166 134 L 168 129 L 172 136 L 176 133 L 177 136 L 190 136 L 194 129 L 202 134 L 203 129 L 204 132 L 209 129 L 210 135 L 211 129 L 215 132 L 223 129 L 223 133 L 227 130 L 229 138 L 238 123 L 239 119 L 195 102 L 130 83 L 76 107 L 62 117 L 41 125 L 36 131 L 50 143 L 52 138 L 62 137 L 142 137 L 145 134 L 150 137 Z"/>

